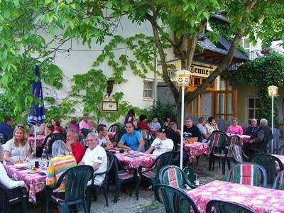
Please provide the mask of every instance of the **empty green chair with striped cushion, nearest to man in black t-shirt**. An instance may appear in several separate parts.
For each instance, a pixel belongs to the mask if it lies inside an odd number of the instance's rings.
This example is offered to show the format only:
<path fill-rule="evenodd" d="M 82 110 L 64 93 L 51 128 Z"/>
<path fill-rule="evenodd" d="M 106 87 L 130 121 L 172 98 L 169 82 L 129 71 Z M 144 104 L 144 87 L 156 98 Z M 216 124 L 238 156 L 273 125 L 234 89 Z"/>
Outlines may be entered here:
<path fill-rule="evenodd" d="M 227 135 L 224 131 L 213 131 L 207 138 L 210 141 L 209 170 L 214 171 L 215 159 L 222 160 L 222 174 L 225 175 L 225 162 L 227 160 L 228 169 L 230 169 L 229 159 L 226 158 L 226 139 Z"/>

